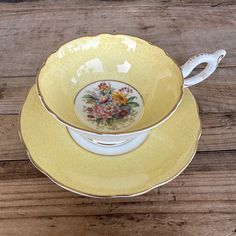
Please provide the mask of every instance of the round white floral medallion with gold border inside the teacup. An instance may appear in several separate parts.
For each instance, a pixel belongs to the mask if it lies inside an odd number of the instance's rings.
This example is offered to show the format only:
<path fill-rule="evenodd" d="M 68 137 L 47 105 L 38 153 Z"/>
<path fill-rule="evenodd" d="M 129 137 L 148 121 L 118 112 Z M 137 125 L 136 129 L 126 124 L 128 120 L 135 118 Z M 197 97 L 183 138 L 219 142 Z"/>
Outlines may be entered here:
<path fill-rule="evenodd" d="M 124 130 L 142 116 L 143 100 L 128 84 L 99 81 L 83 88 L 75 99 L 75 111 L 88 127 L 101 131 Z"/>

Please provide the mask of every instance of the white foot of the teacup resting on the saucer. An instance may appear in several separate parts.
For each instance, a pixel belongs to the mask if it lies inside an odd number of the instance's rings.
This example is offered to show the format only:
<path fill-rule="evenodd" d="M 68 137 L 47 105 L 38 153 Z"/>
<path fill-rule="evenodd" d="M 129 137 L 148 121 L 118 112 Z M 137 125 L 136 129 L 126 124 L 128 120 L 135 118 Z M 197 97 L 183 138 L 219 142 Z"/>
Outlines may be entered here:
<path fill-rule="evenodd" d="M 100 140 L 90 139 L 78 134 L 77 131 L 67 128 L 71 138 L 82 148 L 100 155 L 121 155 L 130 152 L 141 145 L 147 138 L 149 133 L 142 133 L 134 138 L 115 141 L 115 142 L 104 142 Z"/>

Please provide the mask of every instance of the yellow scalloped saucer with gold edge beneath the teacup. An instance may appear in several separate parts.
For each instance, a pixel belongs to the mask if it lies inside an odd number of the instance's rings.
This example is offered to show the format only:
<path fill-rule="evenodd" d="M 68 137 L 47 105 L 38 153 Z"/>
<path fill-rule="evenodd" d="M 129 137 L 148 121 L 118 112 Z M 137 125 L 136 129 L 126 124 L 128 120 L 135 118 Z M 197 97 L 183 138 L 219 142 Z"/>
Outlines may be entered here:
<path fill-rule="evenodd" d="M 101 156 L 78 146 L 67 129 L 42 106 L 36 87 L 20 116 L 21 138 L 29 158 L 52 181 L 93 197 L 136 196 L 178 176 L 192 160 L 201 134 L 196 101 L 188 89 L 169 120 L 144 144 L 121 156 Z"/>

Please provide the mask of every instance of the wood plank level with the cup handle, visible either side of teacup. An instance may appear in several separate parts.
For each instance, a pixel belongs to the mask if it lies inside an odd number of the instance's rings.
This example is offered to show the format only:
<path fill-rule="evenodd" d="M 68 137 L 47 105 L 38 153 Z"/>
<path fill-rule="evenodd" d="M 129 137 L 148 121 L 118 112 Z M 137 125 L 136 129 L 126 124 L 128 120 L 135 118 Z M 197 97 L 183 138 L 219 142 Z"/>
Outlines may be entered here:
<path fill-rule="evenodd" d="M 236 68 L 218 68 L 211 78 L 191 88 L 201 113 L 236 112 L 235 74 Z M 18 114 L 34 82 L 35 77 L 0 78 L 0 114 Z"/>

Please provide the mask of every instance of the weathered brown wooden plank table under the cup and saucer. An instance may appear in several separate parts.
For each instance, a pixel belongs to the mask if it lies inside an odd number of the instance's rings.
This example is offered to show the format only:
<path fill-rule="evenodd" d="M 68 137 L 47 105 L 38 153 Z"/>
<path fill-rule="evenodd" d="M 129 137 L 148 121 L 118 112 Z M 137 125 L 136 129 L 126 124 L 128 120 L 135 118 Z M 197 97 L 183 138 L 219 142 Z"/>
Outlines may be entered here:
<path fill-rule="evenodd" d="M 211 79 L 191 88 L 203 134 L 189 167 L 143 196 L 97 200 L 52 183 L 29 162 L 18 113 L 36 70 L 59 45 L 131 34 L 180 63 L 224 48 Z M 41 0 L 0 3 L 0 235 L 236 235 L 236 2 Z"/>

